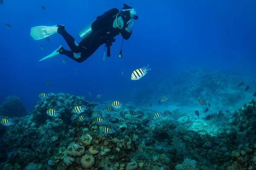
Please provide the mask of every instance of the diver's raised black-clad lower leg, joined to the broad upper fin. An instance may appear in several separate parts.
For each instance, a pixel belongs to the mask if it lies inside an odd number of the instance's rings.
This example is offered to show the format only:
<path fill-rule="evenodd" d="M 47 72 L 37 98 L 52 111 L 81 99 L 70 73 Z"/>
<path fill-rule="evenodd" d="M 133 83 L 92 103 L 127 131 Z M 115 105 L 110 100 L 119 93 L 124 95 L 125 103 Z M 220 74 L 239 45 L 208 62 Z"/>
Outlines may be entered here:
<path fill-rule="evenodd" d="M 67 45 L 69 46 L 70 50 L 74 53 L 81 53 L 81 47 L 78 46 L 76 43 L 76 40 L 67 33 L 64 26 L 57 25 L 58 26 L 58 34 L 61 34 L 61 36 L 64 38 L 64 40 L 67 42 Z"/>

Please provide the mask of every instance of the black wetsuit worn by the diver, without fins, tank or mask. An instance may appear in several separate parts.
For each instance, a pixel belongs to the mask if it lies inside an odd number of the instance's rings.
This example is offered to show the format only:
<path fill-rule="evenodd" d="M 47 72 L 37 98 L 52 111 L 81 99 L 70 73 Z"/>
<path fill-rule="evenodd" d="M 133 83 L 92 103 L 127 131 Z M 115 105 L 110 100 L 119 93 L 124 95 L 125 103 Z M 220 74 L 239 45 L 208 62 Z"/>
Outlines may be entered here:
<path fill-rule="evenodd" d="M 119 10 L 117 8 L 113 8 L 105 12 L 103 15 L 98 16 L 97 19 L 92 23 L 92 34 L 79 42 L 78 46 L 75 44 L 75 39 L 64 30 L 64 26 L 62 26 L 61 29 L 59 26 L 58 33 L 61 34 L 71 50 L 68 51 L 62 48 L 59 50 L 59 54 L 64 54 L 76 62 L 83 62 L 90 57 L 100 45 L 114 42 L 114 37 L 116 37 L 118 34 L 121 34 L 125 40 L 128 40 L 131 33 L 126 31 L 125 28 L 128 27 L 127 22 L 130 18 L 126 18 L 118 13 Z M 113 22 L 116 20 L 116 14 L 118 14 L 118 17 L 122 17 L 124 23 L 122 29 L 118 27 L 113 28 Z M 81 53 L 81 57 L 75 58 L 74 53 Z"/>

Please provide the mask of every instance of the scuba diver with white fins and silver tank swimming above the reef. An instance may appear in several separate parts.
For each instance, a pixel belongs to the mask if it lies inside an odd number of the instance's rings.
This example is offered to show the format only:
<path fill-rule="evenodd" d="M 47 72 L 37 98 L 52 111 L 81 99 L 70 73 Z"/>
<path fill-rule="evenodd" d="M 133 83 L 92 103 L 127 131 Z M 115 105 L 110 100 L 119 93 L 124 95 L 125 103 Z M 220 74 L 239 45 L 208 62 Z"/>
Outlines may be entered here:
<path fill-rule="evenodd" d="M 62 54 L 70 57 L 76 62 L 81 63 L 90 57 L 99 48 L 99 46 L 103 44 L 105 44 L 105 48 L 107 47 L 107 56 L 109 57 L 110 46 L 112 45 L 112 42 L 115 42 L 115 37 L 121 34 L 123 39 L 128 40 L 132 33 L 130 27 L 133 24 L 133 21 L 130 19 L 138 19 L 138 16 L 135 15 L 136 12 L 134 11 L 134 8 L 125 4 L 123 5 L 124 7 L 120 13 L 117 8 L 113 8 L 96 17 L 96 20 L 79 31 L 79 37 L 82 39 L 79 44 L 77 44 L 76 40 L 67 33 L 63 25 L 37 26 L 31 28 L 30 35 L 34 38 L 34 40 L 40 40 L 56 33 L 61 34 L 71 50 L 66 50 L 61 45 L 57 50 L 52 52 L 52 54 L 49 54 L 47 57 L 44 57 L 39 61 Z M 132 24 L 131 26 L 128 26 L 130 22 Z M 118 57 L 122 57 L 122 45 Z"/>

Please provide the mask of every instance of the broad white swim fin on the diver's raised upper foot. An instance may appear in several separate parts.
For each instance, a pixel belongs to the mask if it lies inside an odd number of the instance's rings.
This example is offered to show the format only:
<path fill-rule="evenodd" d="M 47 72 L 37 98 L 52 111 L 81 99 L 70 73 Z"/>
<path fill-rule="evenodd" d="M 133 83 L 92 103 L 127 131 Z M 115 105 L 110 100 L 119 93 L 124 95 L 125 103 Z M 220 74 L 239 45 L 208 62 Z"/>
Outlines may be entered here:
<path fill-rule="evenodd" d="M 52 34 L 56 34 L 58 26 L 37 26 L 31 28 L 30 35 L 34 40 L 40 40 L 46 37 L 49 37 Z"/>

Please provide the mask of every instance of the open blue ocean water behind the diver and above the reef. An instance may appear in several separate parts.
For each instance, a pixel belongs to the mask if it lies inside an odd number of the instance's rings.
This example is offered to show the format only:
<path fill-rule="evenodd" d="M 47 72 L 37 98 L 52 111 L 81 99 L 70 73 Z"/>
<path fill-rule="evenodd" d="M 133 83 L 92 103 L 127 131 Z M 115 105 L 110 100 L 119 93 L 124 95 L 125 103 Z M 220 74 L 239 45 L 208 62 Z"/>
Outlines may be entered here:
<path fill-rule="evenodd" d="M 123 43 L 121 59 L 117 55 L 122 37 L 117 36 L 105 61 L 102 45 L 82 63 L 61 55 L 38 62 L 59 45 L 68 46 L 60 35 L 49 37 L 50 42 L 33 40 L 31 27 L 63 24 L 79 42 L 81 28 L 111 8 L 121 9 L 122 3 L 134 7 L 139 19 L 134 21 L 131 38 Z M 82 96 L 91 92 L 125 102 L 134 88 L 192 67 L 255 76 L 255 7 L 254 0 L 5 0 L 0 6 L 0 102 L 16 95 L 31 111 L 42 91 Z M 131 72 L 148 64 L 152 71 L 140 81 L 131 81 Z"/>

